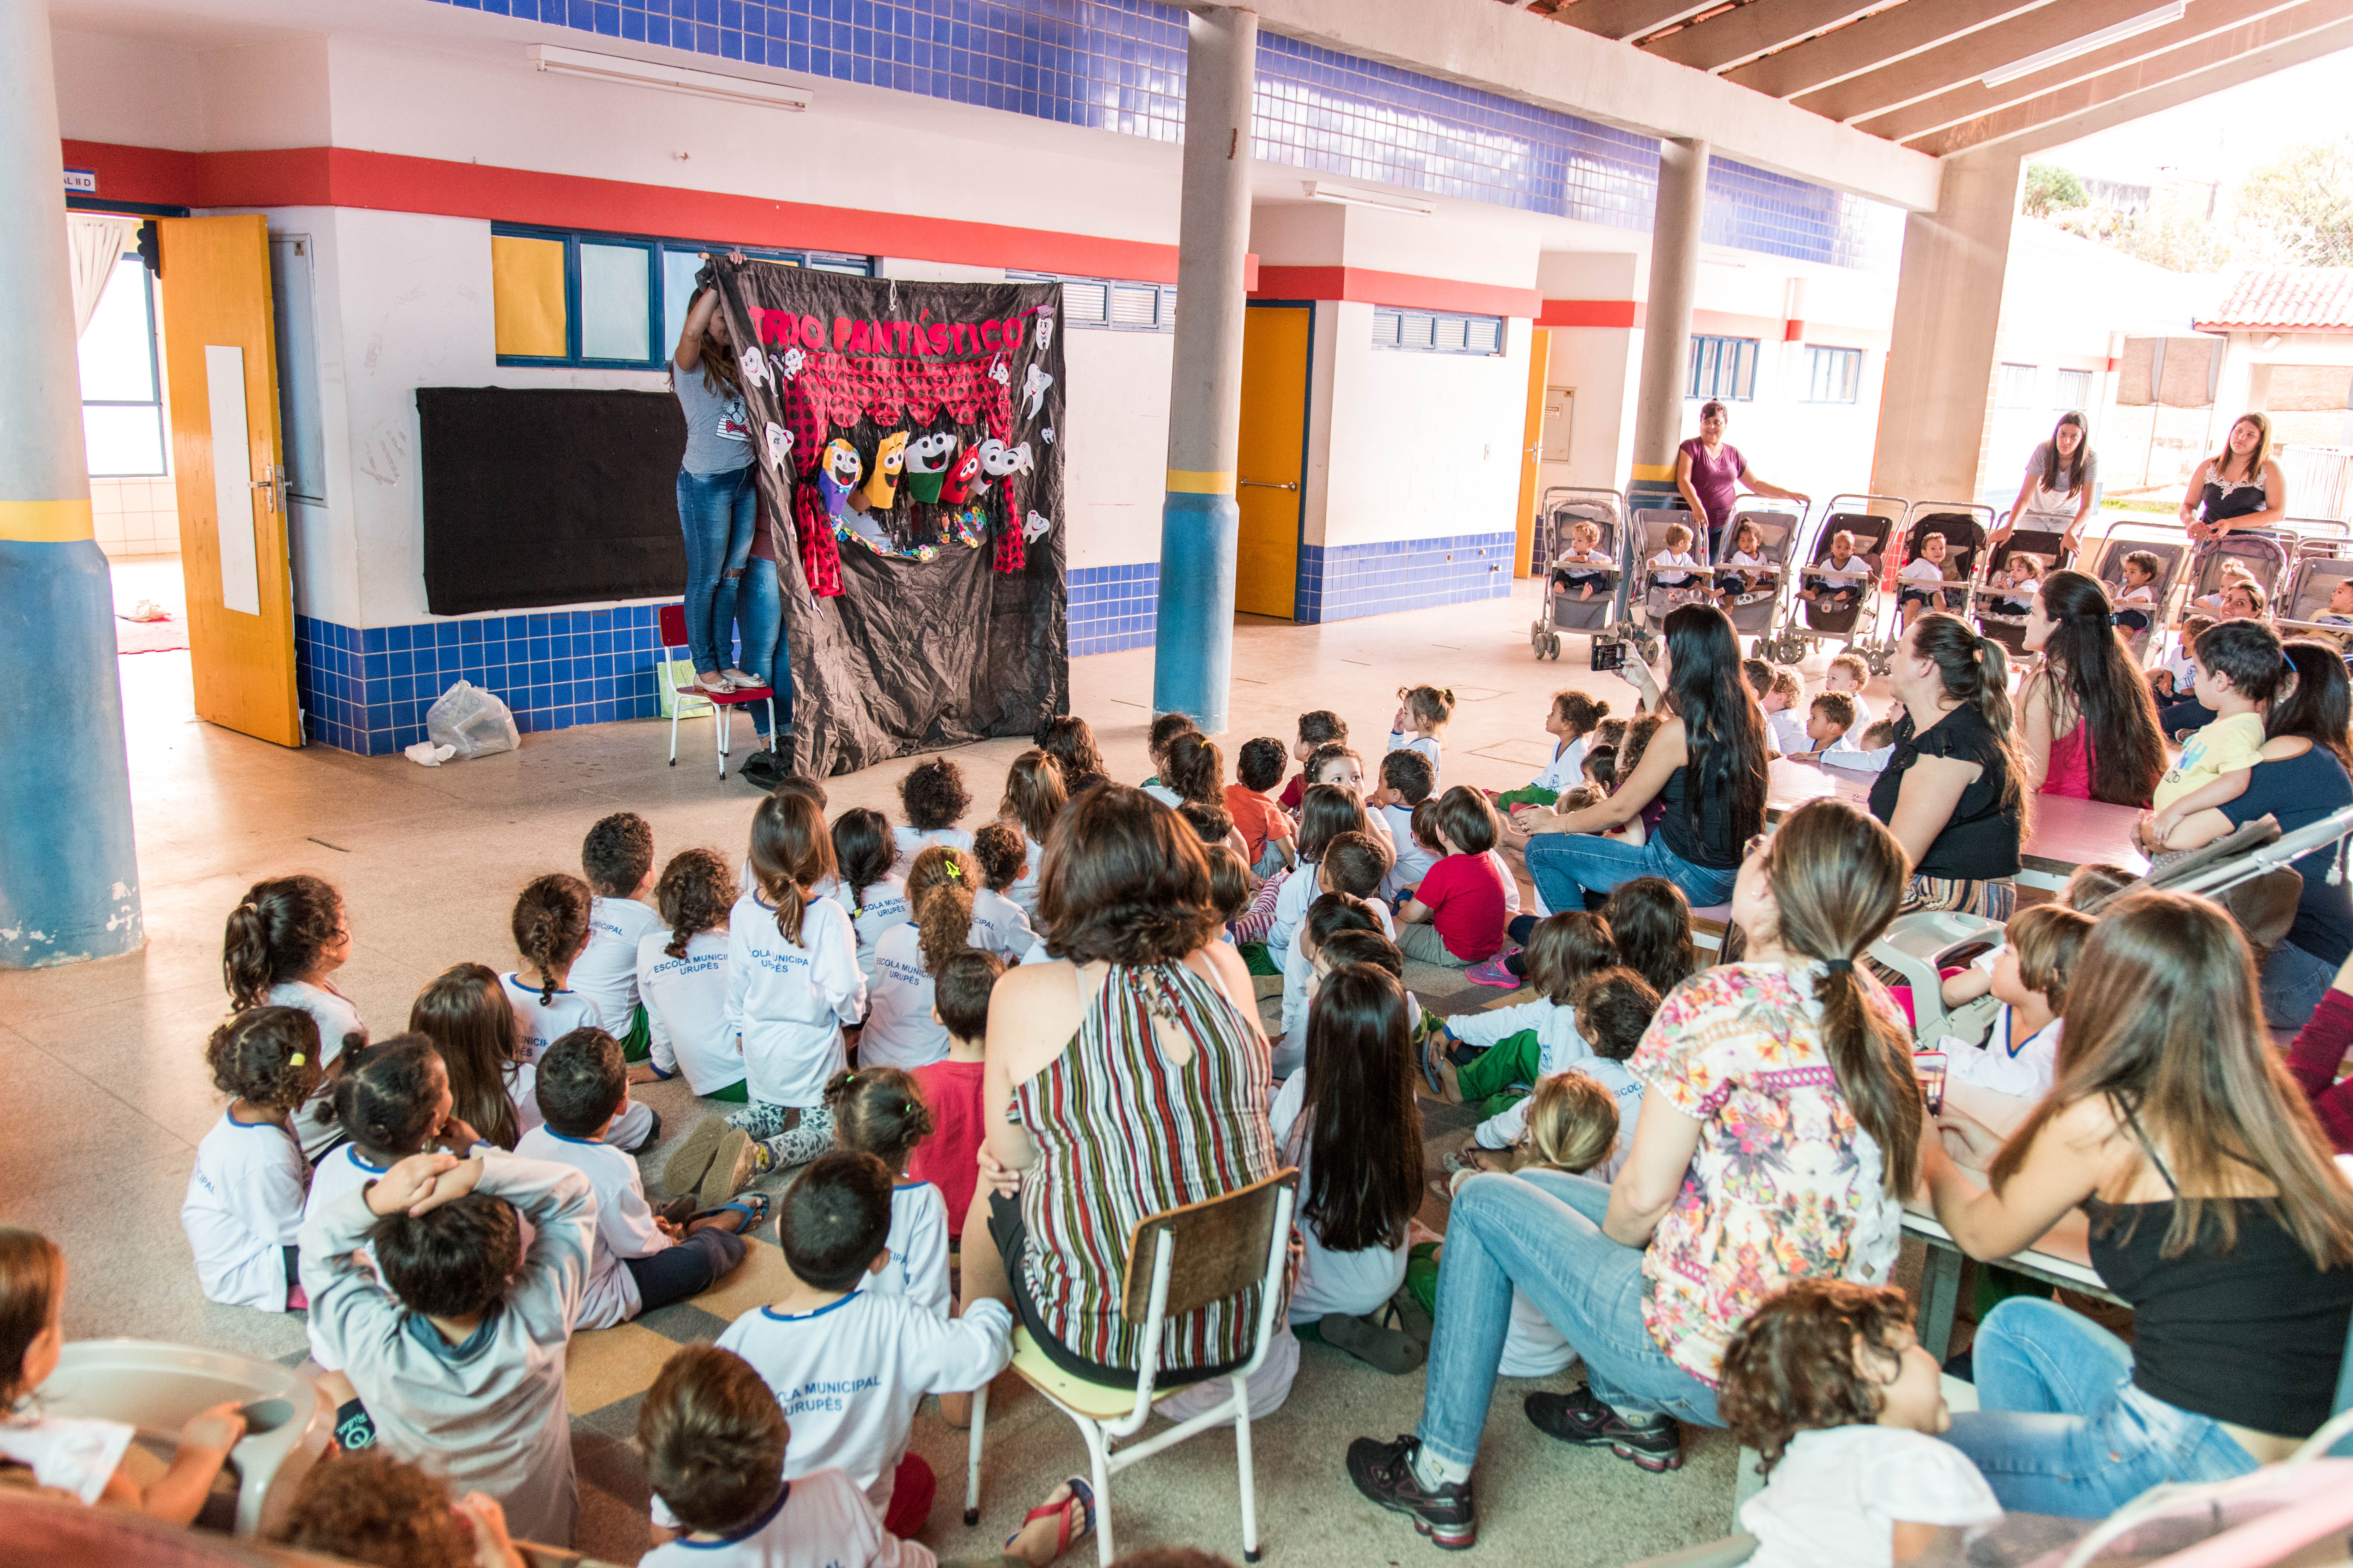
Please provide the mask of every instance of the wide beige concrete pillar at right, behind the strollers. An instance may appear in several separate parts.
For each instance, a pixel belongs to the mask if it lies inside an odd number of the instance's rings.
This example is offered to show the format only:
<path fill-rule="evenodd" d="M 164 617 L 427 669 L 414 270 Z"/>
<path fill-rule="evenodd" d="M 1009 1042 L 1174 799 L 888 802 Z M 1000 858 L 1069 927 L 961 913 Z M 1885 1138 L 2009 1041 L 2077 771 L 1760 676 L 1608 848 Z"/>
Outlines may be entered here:
<path fill-rule="evenodd" d="M 1946 158 L 1937 212 L 1915 212 L 1904 223 L 1904 270 L 1871 458 L 1875 494 L 1977 498 L 2019 176 L 2017 153 Z"/>

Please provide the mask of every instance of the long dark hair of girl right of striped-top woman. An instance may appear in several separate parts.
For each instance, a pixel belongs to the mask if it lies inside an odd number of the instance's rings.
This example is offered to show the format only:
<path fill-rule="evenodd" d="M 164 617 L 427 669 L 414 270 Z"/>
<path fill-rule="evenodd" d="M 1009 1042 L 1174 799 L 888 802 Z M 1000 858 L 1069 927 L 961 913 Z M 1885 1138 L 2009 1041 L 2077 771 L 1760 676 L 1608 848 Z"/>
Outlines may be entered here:
<path fill-rule="evenodd" d="M 1308 1009 L 1304 1072 L 1308 1190 L 1299 1215 L 1334 1253 L 1398 1246 L 1421 1211 L 1419 1067 L 1405 990 L 1372 964 L 1327 973 Z"/>

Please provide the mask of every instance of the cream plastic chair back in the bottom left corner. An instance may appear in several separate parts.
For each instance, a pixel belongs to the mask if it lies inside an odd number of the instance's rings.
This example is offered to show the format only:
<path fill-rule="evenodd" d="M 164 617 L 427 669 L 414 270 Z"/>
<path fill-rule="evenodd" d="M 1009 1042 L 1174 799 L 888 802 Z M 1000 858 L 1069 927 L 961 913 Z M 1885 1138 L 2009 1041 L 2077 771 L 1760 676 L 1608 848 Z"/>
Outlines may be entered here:
<path fill-rule="evenodd" d="M 238 1472 L 238 1535 L 275 1535 L 334 1432 L 334 1410 L 294 1368 L 228 1349 L 153 1340 L 78 1340 L 40 1385 L 49 1415 L 94 1415 L 172 1443 L 198 1410 L 235 1399 L 245 1436 L 228 1450 Z M 5 1556 L 5 1554 L 0 1554 Z"/>

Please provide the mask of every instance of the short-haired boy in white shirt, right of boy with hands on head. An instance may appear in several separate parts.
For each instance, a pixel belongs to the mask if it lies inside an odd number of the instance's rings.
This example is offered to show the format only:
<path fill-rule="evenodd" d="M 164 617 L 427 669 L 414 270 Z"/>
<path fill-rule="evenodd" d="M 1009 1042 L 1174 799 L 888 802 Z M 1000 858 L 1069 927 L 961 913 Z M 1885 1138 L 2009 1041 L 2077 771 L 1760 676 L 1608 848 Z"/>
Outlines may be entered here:
<path fill-rule="evenodd" d="M 572 1030 L 539 1058 L 541 1126 L 515 1143 L 522 1159 L 572 1166 L 595 1187 L 595 1241 L 574 1328 L 612 1328 L 640 1312 L 701 1295 L 744 1262 L 744 1234 L 767 1199 L 739 1194 L 680 1227 L 645 1204 L 631 1154 L 605 1143 L 628 1107 L 621 1041 L 605 1030 Z"/>

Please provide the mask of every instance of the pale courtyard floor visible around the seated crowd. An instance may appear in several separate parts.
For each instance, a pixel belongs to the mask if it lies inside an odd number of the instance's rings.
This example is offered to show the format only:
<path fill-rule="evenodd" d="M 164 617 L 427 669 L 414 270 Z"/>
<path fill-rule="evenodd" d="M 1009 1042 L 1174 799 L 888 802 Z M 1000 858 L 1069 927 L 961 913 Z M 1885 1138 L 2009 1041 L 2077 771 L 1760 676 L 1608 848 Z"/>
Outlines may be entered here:
<path fill-rule="evenodd" d="M 1569 663 L 1527 654 L 1529 583 L 1513 599 L 1320 628 L 1245 623 L 1235 635 L 1233 726 L 1226 755 L 1249 736 L 1292 736 L 1306 705 L 1337 708 L 1355 743 L 1379 755 L 1395 691 L 1452 684 L 1461 698 L 1445 736 L 1447 778 L 1487 788 L 1527 783 L 1544 759 L 1541 719 L 1555 686 L 1628 689 Z M 1073 705 L 1104 741 L 1120 778 L 1141 778 L 1151 719 L 1151 651 L 1073 661 Z M 527 736 L 515 755 L 419 769 L 400 757 L 289 752 L 195 722 L 186 654 L 118 661 L 129 715 L 148 947 L 134 957 L 35 973 L 0 973 L 0 1044 L 14 1063 L 14 1133 L 0 1143 L 0 1213 L 56 1237 L 71 1258 L 66 1331 L 226 1345 L 299 1359 L 296 1316 L 207 1305 L 195 1286 L 179 1201 L 198 1138 L 219 1117 L 198 1046 L 224 1011 L 221 919 L 254 879 L 294 870 L 334 879 L 348 900 L 353 959 L 336 983 L 379 1032 L 398 1030 L 416 990 L 461 959 L 513 966 L 506 919 L 513 891 L 548 870 L 574 870 L 581 832 L 619 809 L 645 813 L 656 853 L 713 844 L 734 860 L 753 790 L 720 783 L 680 748 L 664 766 L 659 722 L 602 724 Z M 751 726 L 736 731 L 751 745 Z M 1021 741 L 955 752 L 981 806 L 995 802 Z M 826 780 L 835 811 L 896 811 L 906 764 Z M 1409 983 L 1438 1011 L 1489 1004 L 1499 992 L 1417 966 Z M 645 1098 L 682 1135 L 701 1114 L 682 1084 Z M 1435 1126 L 1454 1112 L 1435 1110 Z M 1459 1126 L 1459 1121 L 1452 1121 Z M 1435 1161 L 1435 1150 L 1433 1150 Z M 659 1152 L 645 1161 L 661 1171 Z M 1426 1220 L 1442 1222 L 1435 1204 Z M 633 1561 L 645 1549 L 645 1476 L 628 1448 L 635 1396 L 668 1345 L 713 1335 L 767 1300 L 781 1258 L 772 1244 L 720 1291 L 640 1324 L 581 1335 L 572 1349 L 572 1408 L 584 1483 L 579 1544 Z M 1555 1380 L 1558 1382 L 1558 1380 Z M 1722 1535 L 1732 1502 L 1732 1443 L 1694 1434 L 1689 1465 L 1647 1476 L 1607 1455 L 1565 1450 L 1520 1418 L 1522 1389 L 1494 1401 L 1480 1462 L 1482 1535 L 1492 1559 L 1562 1566 L 1626 1563 Z M 1271 1563 L 1435 1561 L 1402 1521 L 1358 1500 L 1341 1450 L 1362 1434 L 1414 1425 L 1421 1375 L 1384 1378 L 1337 1352 L 1308 1347 L 1292 1399 L 1259 1422 L 1259 1519 Z M 962 1434 L 927 1408 L 915 1448 L 941 1476 L 925 1540 L 958 1556 L 993 1549 L 1085 1450 L 1035 1399 L 1000 1385 L 991 1410 L 984 1528 L 955 1509 Z M 1195 1439 L 1115 1486 L 1122 1547 L 1202 1544 L 1238 1556 L 1233 1448 Z"/>

